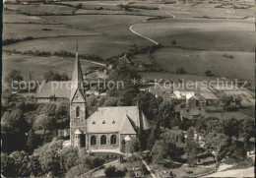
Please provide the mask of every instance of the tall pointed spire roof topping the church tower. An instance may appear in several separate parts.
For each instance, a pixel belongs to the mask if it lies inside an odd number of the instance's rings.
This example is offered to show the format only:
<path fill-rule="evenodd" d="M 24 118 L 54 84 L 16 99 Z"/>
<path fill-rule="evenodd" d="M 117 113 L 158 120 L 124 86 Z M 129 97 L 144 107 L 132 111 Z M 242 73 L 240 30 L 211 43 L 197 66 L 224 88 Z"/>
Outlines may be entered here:
<path fill-rule="evenodd" d="M 70 100 L 74 98 L 74 95 L 76 94 L 76 91 L 79 89 L 83 96 L 85 96 L 84 89 L 83 89 L 83 73 L 80 65 L 80 61 L 78 58 L 78 46 L 76 51 L 76 60 L 72 75 L 72 86 L 71 86 L 71 95 Z"/>

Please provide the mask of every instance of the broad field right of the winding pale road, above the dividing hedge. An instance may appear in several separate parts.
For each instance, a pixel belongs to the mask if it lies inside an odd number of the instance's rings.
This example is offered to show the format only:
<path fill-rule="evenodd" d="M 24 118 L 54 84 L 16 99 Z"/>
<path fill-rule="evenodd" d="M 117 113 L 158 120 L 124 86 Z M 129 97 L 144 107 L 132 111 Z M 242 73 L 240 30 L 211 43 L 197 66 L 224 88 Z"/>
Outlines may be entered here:
<path fill-rule="evenodd" d="M 134 30 L 171 46 L 195 49 L 254 51 L 254 21 L 161 19 L 137 25 Z"/>

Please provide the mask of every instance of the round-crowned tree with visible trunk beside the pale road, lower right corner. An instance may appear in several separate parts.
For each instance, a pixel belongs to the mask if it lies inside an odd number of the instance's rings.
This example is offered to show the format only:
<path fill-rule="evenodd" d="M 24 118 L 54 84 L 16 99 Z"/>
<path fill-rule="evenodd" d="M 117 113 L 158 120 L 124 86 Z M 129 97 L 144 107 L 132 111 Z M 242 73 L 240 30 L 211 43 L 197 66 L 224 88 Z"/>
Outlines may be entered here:
<path fill-rule="evenodd" d="M 219 161 L 224 158 L 228 142 L 228 137 L 220 133 L 209 133 L 205 138 L 205 148 L 215 154 L 216 170 Z"/>

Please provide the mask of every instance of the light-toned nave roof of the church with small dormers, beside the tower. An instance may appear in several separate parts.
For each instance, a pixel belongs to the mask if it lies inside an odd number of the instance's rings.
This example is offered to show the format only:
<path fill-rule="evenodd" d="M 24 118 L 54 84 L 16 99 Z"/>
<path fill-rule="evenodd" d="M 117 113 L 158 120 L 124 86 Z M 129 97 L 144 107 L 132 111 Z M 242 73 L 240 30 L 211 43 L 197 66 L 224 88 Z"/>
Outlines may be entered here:
<path fill-rule="evenodd" d="M 138 106 L 98 107 L 97 111 L 87 119 L 87 131 L 136 134 L 135 129 L 141 127 L 141 123 L 146 122 L 140 121 Z"/>

